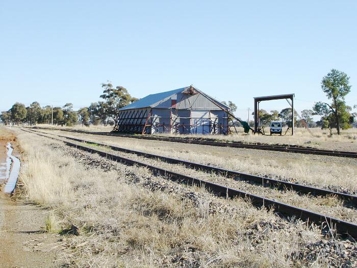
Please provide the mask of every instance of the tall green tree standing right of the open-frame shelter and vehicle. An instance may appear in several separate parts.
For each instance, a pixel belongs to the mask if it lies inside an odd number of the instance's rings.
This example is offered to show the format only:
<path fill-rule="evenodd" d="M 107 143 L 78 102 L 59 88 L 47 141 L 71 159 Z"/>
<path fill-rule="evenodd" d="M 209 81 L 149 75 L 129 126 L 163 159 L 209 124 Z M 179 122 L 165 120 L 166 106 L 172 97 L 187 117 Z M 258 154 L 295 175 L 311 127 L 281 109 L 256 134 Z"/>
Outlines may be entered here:
<path fill-rule="evenodd" d="M 321 81 L 322 91 L 331 100 L 331 104 L 318 102 L 313 107 L 314 114 L 322 116 L 323 128 L 336 128 L 340 134 L 340 128 L 351 127 L 351 107 L 346 106 L 345 96 L 351 91 L 349 77 L 342 71 L 331 69 Z"/>

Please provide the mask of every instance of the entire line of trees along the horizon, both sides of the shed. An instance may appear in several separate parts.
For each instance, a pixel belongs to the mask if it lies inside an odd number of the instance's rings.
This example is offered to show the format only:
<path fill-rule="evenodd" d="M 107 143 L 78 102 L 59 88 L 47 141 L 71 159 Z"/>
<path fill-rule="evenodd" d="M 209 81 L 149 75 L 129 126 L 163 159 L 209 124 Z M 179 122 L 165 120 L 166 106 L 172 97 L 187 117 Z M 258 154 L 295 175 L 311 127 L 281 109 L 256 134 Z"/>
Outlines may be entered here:
<path fill-rule="evenodd" d="M 82 126 L 103 124 L 115 128 L 118 124 L 119 109 L 138 99 L 133 98 L 127 89 L 122 86 L 114 87 L 111 83 L 103 83 L 101 87 L 104 89 L 103 94 L 100 95 L 102 100 L 91 103 L 89 107 L 83 107 L 78 111 L 73 110 L 71 103 L 67 103 L 63 107 L 41 107 L 38 102 L 33 102 L 30 106 L 25 107 L 22 103 L 15 103 L 10 110 L 1 112 L 0 119 L 5 125 L 50 124 L 53 120 L 54 124 L 61 126 L 73 126 L 80 121 Z M 351 90 L 349 77 L 342 71 L 331 69 L 323 77 L 321 88 L 331 102 L 317 102 L 312 109 L 302 110 L 302 119 L 295 117 L 294 124 L 297 127 L 302 127 L 303 120 L 309 127 L 321 127 L 330 130 L 335 128 L 338 134 L 340 134 L 341 129 L 348 129 L 352 127 L 352 124 L 356 124 L 357 113 L 353 113 L 352 107 L 346 105 L 345 102 L 345 96 Z M 230 107 L 232 113 L 237 110 L 237 106 L 231 101 L 228 104 L 222 103 Z M 357 108 L 357 106 L 354 106 L 354 108 Z M 258 112 L 262 125 L 268 125 L 271 121 L 280 119 L 287 126 L 292 125 L 291 108 L 285 108 L 280 112 L 276 110 L 267 112 L 263 109 Z M 320 115 L 321 119 L 314 122 L 313 115 Z M 250 126 L 253 124 L 253 121 L 249 121 Z"/>

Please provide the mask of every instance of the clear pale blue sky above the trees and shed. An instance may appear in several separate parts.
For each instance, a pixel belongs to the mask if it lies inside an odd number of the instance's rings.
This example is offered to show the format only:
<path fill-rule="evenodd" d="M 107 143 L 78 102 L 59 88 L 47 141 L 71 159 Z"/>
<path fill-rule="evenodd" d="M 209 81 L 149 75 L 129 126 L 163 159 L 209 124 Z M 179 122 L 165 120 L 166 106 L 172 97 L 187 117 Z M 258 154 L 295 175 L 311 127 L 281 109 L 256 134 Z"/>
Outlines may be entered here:
<path fill-rule="evenodd" d="M 357 1 L 0 0 L 0 111 L 79 109 L 111 81 L 136 98 L 192 84 L 246 120 L 254 96 L 295 93 L 298 112 L 327 101 L 332 68 L 350 76 L 353 106 L 356 13 Z"/>

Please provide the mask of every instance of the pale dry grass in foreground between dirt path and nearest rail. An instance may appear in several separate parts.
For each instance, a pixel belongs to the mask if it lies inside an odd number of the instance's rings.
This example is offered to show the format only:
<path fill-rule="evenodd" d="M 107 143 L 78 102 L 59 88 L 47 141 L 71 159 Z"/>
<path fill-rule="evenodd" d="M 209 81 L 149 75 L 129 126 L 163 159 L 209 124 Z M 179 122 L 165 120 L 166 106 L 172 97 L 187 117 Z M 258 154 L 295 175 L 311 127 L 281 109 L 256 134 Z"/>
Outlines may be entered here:
<path fill-rule="evenodd" d="M 321 239 L 318 230 L 282 222 L 243 200 L 212 198 L 202 189 L 196 202 L 150 191 L 140 181 L 164 180 L 152 178 L 147 169 L 116 164 L 118 170 L 105 172 L 82 165 L 63 148 L 50 149 L 53 141 L 45 138 L 20 133 L 18 140 L 27 163 L 21 179 L 28 197 L 56 207 L 62 229 L 79 228 L 79 236 L 59 242 L 70 267 L 304 266 L 294 253 Z M 212 199 L 232 209 L 210 213 Z M 326 261 L 318 257 L 312 266 Z"/>

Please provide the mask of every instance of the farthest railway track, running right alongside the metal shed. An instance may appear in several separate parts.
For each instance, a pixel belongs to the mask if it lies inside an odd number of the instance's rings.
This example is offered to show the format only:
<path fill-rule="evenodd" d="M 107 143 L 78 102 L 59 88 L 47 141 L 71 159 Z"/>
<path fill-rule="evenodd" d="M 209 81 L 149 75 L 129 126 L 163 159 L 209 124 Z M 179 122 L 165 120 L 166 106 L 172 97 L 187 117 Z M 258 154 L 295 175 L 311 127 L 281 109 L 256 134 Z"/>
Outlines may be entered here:
<path fill-rule="evenodd" d="M 288 152 L 288 153 L 298 153 L 298 154 L 357 158 L 357 152 L 322 150 L 316 148 L 303 148 L 303 147 L 288 147 L 284 145 L 261 145 L 261 144 L 246 144 L 240 142 L 203 141 L 197 139 L 179 139 L 179 138 L 166 138 L 166 137 L 158 137 L 158 136 L 154 137 L 154 136 L 144 136 L 144 135 L 115 134 L 115 133 L 108 133 L 108 132 L 89 132 L 83 130 L 67 130 L 67 129 L 51 129 L 51 128 L 38 128 L 38 129 L 60 130 L 60 131 L 67 131 L 67 132 L 77 132 L 77 133 L 85 133 L 85 134 L 92 134 L 92 135 L 115 136 L 115 137 L 125 137 L 125 138 L 135 138 L 135 139 L 191 143 L 191 144 L 210 145 L 210 146 L 217 146 L 217 147 L 232 147 L 232 148 L 278 151 L 278 152 Z"/>

